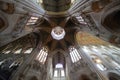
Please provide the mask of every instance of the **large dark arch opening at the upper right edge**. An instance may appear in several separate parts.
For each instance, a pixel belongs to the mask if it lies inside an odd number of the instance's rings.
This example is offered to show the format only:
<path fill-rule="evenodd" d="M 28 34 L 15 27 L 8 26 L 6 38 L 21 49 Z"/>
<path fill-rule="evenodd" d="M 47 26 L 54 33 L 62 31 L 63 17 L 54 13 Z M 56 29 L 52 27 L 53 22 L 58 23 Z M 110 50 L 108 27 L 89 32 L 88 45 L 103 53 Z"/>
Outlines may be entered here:
<path fill-rule="evenodd" d="M 114 2 L 104 9 L 101 18 L 101 24 L 105 29 L 112 32 L 113 34 L 119 36 L 120 34 L 120 2 Z M 112 9 L 111 9 L 112 7 Z"/>

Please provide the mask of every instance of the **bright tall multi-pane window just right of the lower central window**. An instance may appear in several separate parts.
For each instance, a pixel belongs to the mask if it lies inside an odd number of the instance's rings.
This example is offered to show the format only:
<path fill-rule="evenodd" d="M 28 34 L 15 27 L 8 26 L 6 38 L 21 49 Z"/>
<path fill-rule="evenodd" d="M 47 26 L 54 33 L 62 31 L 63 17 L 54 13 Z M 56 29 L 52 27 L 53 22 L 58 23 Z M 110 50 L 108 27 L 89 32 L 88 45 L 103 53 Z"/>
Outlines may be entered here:
<path fill-rule="evenodd" d="M 71 57 L 73 63 L 75 63 L 81 59 L 80 54 L 74 47 L 70 47 L 69 51 L 70 51 L 70 57 Z"/>

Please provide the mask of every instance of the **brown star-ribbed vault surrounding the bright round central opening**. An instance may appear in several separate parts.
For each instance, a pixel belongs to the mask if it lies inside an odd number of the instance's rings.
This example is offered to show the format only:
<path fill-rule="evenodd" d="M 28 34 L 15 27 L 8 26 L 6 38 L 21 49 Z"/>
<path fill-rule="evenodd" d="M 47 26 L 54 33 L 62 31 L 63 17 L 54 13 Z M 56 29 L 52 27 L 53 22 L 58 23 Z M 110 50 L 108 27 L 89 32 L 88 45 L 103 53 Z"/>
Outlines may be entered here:
<path fill-rule="evenodd" d="M 60 26 L 65 30 L 65 37 L 61 40 L 56 40 L 51 36 L 51 31 L 54 27 Z M 42 46 L 47 46 L 50 51 L 56 49 L 68 50 L 69 46 L 74 45 L 74 33 L 76 31 L 74 23 L 66 17 L 49 17 L 46 18 L 38 27 L 42 36 Z"/>

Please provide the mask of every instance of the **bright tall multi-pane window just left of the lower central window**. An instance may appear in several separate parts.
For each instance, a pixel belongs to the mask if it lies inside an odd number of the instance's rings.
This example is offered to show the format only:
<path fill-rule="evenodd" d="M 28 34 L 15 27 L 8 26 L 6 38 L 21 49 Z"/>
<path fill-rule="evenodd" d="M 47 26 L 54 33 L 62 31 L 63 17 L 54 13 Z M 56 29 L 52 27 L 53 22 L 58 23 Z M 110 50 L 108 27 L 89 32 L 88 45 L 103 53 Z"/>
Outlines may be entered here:
<path fill-rule="evenodd" d="M 47 55 L 48 55 L 48 49 L 43 47 L 40 50 L 39 54 L 37 55 L 36 60 L 44 64 L 46 61 Z"/>

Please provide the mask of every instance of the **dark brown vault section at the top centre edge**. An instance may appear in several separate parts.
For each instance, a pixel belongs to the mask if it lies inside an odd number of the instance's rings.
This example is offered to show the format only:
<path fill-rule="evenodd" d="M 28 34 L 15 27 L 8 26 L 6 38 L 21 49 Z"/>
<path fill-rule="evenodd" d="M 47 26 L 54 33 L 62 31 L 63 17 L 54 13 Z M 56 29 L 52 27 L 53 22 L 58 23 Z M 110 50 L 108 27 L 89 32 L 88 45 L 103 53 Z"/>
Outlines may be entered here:
<path fill-rule="evenodd" d="M 42 5 L 46 11 L 62 12 L 70 8 L 71 0 L 43 0 Z"/>

